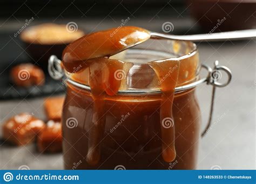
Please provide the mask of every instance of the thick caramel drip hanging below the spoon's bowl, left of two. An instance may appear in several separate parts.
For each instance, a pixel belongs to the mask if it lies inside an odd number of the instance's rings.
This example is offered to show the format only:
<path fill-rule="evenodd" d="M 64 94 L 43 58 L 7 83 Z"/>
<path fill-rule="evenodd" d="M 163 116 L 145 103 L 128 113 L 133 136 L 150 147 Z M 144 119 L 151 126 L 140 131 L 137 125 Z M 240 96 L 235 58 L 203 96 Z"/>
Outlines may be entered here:
<path fill-rule="evenodd" d="M 123 70 L 124 62 L 108 58 L 98 58 L 89 66 L 89 84 L 93 98 L 92 125 L 89 130 L 89 143 L 86 161 L 90 165 L 98 164 L 100 160 L 100 143 L 105 130 L 105 96 L 115 95 L 121 80 L 115 75 Z"/>

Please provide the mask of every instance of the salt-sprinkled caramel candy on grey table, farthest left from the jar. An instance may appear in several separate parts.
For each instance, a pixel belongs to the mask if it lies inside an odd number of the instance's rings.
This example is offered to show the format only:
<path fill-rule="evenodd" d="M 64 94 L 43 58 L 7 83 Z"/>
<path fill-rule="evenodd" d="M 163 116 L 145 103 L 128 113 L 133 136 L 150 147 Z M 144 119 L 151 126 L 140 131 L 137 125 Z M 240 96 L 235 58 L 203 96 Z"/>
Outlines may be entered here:
<path fill-rule="evenodd" d="M 45 123 L 33 114 L 21 113 L 3 124 L 3 138 L 16 145 L 26 145 L 35 140 Z"/>

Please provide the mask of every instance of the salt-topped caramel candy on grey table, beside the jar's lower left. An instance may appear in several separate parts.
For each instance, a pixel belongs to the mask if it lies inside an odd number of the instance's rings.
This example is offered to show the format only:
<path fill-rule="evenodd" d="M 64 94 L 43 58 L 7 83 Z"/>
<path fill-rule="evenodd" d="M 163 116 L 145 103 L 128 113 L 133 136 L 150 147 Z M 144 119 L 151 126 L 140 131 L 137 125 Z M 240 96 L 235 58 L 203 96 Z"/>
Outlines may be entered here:
<path fill-rule="evenodd" d="M 39 134 L 37 147 L 40 152 L 56 153 L 62 151 L 62 124 L 49 121 Z"/>

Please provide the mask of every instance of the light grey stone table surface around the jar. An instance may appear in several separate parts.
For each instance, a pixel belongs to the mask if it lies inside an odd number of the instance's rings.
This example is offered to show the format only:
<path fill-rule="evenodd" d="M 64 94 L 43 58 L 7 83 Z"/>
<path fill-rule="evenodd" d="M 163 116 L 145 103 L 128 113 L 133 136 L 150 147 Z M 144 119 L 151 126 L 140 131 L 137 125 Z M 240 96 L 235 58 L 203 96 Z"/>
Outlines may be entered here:
<path fill-rule="evenodd" d="M 197 169 L 255 169 L 255 40 L 199 43 L 198 48 L 202 63 L 213 66 L 219 60 L 232 70 L 233 79 L 229 86 L 217 89 L 213 125 L 200 141 Z M 221 80 L 224 79 L 225 76 Z M 210 86 L 197 88 L 202 130 L 210 110 L 210 95 Z M 1 101 L 0 122 L 24 111 L 45 119 L 42 102 L 43 98 Z M 30 169 L 63 169 L 62 154 L 40 154 L 35 145 L 10 147 L 1 143 L 0 169 L 17 169 L 21 165 Z"/>

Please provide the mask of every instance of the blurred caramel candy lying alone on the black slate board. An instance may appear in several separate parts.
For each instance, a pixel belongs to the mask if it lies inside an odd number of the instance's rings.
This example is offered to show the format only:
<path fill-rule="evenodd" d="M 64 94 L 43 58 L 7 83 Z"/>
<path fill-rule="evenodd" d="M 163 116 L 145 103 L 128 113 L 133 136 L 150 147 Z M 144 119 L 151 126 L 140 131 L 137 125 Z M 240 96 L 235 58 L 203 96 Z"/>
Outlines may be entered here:
<path fill-rule="evenodd" d="M 43 70 L 31 63 L 15 66 L 11 69 L 10 75 L 12 82 L 22 87 L 42 86 L 45 81 Z"/>

